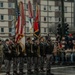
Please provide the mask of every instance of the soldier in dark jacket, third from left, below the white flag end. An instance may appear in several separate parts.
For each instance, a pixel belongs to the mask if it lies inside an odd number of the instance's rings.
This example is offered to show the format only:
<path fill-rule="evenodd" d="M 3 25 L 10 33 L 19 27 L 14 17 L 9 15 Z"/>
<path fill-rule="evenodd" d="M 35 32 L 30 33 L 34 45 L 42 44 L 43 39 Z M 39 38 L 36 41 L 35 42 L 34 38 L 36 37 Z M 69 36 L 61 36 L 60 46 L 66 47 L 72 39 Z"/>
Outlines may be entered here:
<path fill-rule="evenodd" d="M 23 48 L 22 48 L 22 44 L 20 42 L 17 42 L 17 54 L 18 54 L 18 61 L 19 61 L 19 75 L 23 75 L 23 68 L 24 68 L 24 52 L 23 52 Z"/>

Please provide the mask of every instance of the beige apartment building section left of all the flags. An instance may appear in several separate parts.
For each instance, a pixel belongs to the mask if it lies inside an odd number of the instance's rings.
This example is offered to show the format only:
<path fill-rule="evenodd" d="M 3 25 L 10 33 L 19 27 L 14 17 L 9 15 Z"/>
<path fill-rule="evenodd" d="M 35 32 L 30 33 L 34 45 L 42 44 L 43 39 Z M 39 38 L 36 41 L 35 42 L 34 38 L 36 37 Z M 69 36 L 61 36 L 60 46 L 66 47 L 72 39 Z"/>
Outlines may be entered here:
<path fill-rule="evenodd" d="M 0 38 L 10 36 L 14 8 L 14 0 L 0 0 Z"/>

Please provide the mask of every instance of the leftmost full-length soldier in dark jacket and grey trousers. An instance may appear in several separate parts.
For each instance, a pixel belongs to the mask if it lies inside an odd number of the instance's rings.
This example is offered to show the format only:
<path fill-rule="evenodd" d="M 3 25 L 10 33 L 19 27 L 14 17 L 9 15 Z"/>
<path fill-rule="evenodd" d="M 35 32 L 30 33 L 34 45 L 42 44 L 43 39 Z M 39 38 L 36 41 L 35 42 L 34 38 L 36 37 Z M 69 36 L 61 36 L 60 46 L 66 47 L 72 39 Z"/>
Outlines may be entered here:
<path fill-rule="evenodd" d="M 3 47 L 3 52 L 4 52 L 4 56 L 5 56 L 5 70 L 6 70 L 6 75 L 10 75 L 10 69 L 11 69 L 11 59 L 12 59 L 12 56 L 11 56 L 11 50 L 10 50 L 10 47 L 9 47 L 9 40 L 6 39 L 5 41 L 5 45 Z"/>

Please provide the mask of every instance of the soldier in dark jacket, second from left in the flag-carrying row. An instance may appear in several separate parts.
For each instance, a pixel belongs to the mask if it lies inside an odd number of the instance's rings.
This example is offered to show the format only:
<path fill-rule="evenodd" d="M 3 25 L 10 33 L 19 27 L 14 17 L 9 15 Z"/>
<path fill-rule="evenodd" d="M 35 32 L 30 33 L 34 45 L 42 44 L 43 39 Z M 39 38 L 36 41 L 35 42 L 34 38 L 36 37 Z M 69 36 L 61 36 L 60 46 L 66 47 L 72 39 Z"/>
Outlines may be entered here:
<path fill-rule="evenodd" d="M 13 75 L 18 75 L 17 67 L 18 67 L 18 57 L 17 57 L 17 50 L 16 50 L 16 43 L 14 39 L 10 41 L 10 48 L 12 51 L 12 59 L 13 59 Z"/>

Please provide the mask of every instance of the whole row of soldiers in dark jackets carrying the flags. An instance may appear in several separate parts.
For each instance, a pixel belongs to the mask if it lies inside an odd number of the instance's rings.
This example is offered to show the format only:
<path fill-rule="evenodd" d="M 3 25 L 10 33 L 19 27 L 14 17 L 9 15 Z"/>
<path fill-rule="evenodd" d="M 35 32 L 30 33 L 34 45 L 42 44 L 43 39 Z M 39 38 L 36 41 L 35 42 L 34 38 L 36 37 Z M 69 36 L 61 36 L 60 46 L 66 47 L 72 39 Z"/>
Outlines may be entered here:
<path fill-rule="evenodd" d="M 6 39 L 6 43 L 3 47 L 5 56 L 6 75 L 10 75 L 11 60 L 13 60 L 13 75 L 23 75 L 24 69 L 24 54 L 27 56 L 27 73 L 32 74 L 34 72 L 44 72 L 44 60 L 47 58 L 46 72 L 47 75 L 53 75 L 51 73 L 51 55 L 53 51 L 53 45 L 50 40 L 45 40 L 43 37 L 40 39 L 35 38 L 33 41 L 30 37 L 27 38 L 25 43 L 25 52 L 20 42 L 15 43 L 14 40 L 10 42 Z M 33 61 L 33 65 L 32 65 Z M 19 73 L 18 73 L 19 64 Z"/>

